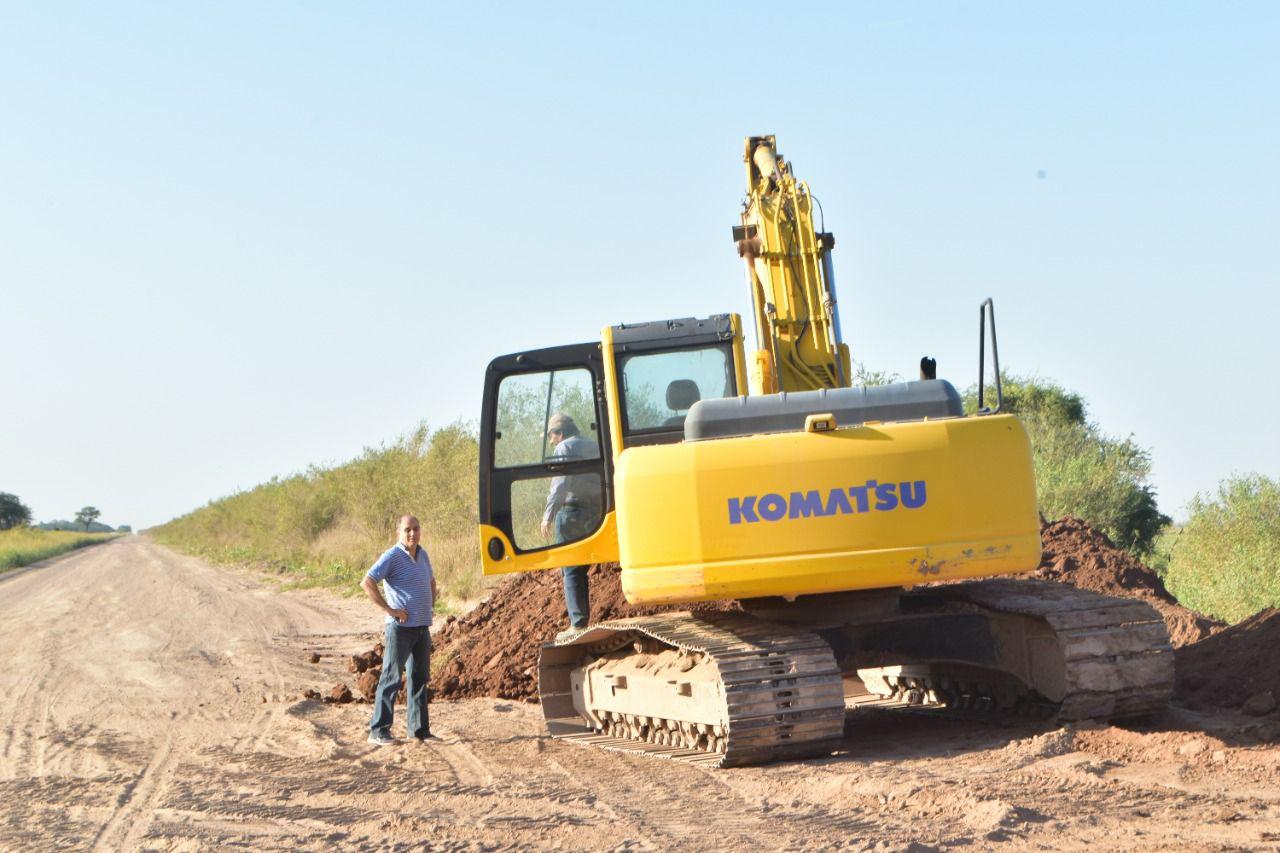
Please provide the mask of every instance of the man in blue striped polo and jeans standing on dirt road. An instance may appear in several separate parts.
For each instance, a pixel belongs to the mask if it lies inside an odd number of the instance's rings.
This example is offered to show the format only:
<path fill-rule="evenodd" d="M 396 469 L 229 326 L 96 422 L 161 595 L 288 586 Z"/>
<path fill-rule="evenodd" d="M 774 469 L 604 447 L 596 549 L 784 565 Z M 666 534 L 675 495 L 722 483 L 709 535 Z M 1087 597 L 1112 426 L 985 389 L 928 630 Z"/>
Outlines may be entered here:
<path fill-rule="evenodd" d="M 396 694 L 401 670 L 408 671 L 408 733 L 419 740 L 439 740 L 431 734 L 426 707 L 426 684 L 431 661 L 431 608 L 436 588 L 426 548 L 419 544 L 422 528 L 412 515 L 401 516 L 399 542 L 388 548 L 360 581 L 365 594 L 387 613 L 383 643 L 383 675 L 369 721 L 369 743 L 385 745 L 392 738 Z M 387 587 L 383 597 L 378 581 Z"/>

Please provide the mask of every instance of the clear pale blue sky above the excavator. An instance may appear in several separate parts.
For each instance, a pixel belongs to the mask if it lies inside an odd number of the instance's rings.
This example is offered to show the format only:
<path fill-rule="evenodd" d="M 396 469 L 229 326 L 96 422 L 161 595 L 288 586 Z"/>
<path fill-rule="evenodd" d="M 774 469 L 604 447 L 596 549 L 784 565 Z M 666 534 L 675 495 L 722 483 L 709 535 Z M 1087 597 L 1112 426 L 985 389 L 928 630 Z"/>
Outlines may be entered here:
<path fill-rule="evenodd" d="M 993 296 L 1166 512 L 1280 475 L 1280 6 L 1041 6 L 4 4 L 0 491 L 152 525 L 745 313 L 753 133 L 858 360 L 970 384 Z"/>

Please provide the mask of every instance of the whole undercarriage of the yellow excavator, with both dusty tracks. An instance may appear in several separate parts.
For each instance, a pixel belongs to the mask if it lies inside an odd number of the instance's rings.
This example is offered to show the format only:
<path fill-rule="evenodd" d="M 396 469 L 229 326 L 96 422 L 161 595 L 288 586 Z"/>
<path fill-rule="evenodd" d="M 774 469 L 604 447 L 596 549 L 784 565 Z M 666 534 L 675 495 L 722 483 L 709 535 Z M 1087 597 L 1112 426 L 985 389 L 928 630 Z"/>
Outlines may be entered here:
<path fill-rule="evenodd" d="M 602 622 L 543 647 L 549 731 L 708 766 L 832 752 L 856 706 L 1061 720 L 1158 711 L 1148 605 L 1036 580 L 744 602 Z"/>

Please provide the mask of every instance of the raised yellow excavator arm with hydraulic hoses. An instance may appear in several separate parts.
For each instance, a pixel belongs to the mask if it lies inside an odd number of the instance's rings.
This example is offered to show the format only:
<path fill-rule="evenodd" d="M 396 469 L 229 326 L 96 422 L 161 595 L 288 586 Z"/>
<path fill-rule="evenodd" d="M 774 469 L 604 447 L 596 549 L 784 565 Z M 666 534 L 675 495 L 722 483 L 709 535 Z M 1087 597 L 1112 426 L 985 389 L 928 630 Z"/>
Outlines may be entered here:
<path fill-rule="evenodd" d="M 814 227 L 814 199 L 777 151 L 773 136 L 746 138 L 746 201 L 733 228 L 746 265 L 756 348 L 753 394 L 847 388 L 849 347 L 840 337 L 835 237 Z"/>

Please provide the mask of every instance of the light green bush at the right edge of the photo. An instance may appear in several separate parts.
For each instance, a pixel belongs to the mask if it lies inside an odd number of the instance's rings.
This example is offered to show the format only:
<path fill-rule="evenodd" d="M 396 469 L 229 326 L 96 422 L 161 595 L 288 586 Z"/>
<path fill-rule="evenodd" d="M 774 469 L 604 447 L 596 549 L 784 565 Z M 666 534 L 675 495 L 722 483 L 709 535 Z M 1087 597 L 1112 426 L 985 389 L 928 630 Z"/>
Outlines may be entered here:
<path fill-rule="evenodd" d="M 1280 606 L 1280 482 L 1260 474 L 1197 494 L 1169 548 L 1169 590 L 1193 610 L 1238 622 Z"/>

